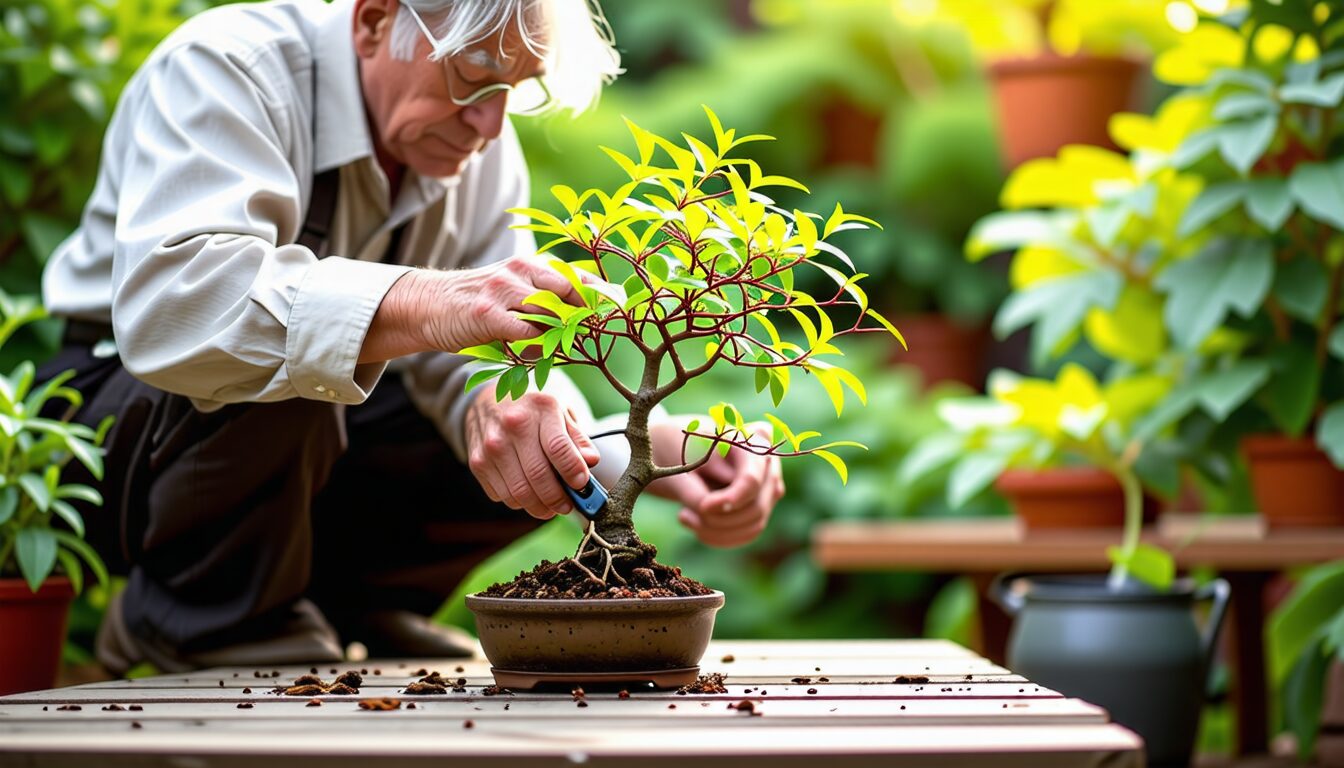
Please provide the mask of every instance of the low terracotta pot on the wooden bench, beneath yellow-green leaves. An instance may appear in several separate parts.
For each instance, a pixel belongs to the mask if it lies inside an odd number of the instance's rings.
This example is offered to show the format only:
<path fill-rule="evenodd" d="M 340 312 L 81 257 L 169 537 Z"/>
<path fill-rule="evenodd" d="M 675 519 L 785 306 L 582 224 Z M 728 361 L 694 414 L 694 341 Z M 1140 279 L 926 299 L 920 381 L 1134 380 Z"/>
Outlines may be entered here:
<path fill-rule="evenodd" d="M 1028 529 L 1098 529 L 1125 525 L 1125 492 L 1093 467 L 1008 469 L 995 488 Z"/>

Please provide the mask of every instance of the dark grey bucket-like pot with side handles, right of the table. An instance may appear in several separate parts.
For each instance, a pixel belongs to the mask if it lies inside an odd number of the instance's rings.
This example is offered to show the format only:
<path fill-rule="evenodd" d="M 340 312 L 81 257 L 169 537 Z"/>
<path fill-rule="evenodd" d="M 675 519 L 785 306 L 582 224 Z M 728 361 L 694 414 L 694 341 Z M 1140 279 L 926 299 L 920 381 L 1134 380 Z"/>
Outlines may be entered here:
<path fill-rule="evenodd" d="M 1231 588 L 1177 580 L 1169 592 L 1105 576 L 1000 576 L 995 599 L 1015 616 L 1008 667 L 1106 707 L 1144 737 L 1150 765 L 1188 765 L 1208 689 L 1210 659 Z M 1210 601 L 1203 629 L 1195 607 Z"/>

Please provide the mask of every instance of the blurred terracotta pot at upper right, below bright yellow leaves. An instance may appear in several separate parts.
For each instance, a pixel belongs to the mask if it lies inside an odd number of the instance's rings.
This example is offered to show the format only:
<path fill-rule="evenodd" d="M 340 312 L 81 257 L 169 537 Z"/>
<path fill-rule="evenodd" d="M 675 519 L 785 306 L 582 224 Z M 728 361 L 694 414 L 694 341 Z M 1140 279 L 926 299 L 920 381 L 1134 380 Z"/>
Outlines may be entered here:
<path fill-rule="evenodd" d="M 1066 144 L 1114 149 L 1110 116 L 1133 106 L 1144 66 L 1133 59 L 1059 56 L 1004 59 L 989 65 L 1008 167 L 1054 157 Z"/>

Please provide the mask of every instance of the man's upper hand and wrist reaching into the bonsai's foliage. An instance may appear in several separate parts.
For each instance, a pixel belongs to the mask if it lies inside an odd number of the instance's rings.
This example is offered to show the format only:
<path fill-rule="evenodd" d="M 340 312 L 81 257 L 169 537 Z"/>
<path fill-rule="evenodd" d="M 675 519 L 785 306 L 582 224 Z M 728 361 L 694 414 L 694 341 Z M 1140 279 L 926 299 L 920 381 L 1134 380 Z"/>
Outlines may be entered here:
<path fill-rule="evenodd" d="M 570 281 L 539 256 L 515 256 L 476 269 L 409 272 L 392 284 L 378 307 L 359 362 L 531 339 L 542 328 L 519 320 L 513 311 L 544 312 L 523 307 L 523 300 L 538 291 L 582 304 Z"/>

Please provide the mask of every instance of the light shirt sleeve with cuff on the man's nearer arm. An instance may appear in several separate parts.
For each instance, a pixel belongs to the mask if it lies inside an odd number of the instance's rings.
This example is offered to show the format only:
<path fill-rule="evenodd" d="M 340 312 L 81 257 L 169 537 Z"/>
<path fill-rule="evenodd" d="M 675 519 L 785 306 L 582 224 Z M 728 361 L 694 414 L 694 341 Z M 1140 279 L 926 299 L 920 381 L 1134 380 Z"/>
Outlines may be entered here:
<path fill-rule="evenodd" d="M 210 409 L 306 397 L 358 404 L 383 364 L 356 364 L 410 268 L 319 260 L 293 243 L 309 180 L 296 172 L 301 100 L 265 61 L 180 47 L 148 65 L 122 122 L 126 159 L 112 320 L 126 369 Z"/>

